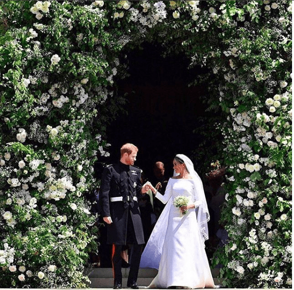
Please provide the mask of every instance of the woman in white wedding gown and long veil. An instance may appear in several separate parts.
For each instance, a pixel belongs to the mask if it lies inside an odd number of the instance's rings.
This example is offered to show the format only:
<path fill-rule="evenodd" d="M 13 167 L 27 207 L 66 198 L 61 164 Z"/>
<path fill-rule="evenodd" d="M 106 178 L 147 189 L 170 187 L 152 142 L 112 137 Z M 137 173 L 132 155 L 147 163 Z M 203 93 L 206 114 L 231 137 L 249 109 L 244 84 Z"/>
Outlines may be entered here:
<path fill-rule="evenodd" d="M 164 195 L 148 183 L 166 205 L 142 254 L 140 268 L 158 269 L 148 288 L 219 288 L 204 250 L 209 213 L 202 181 L 192 161 L 183 154 L 175 156 L 173 169 L 176 176 L 169 179 Z M 176 196 L 188 197 L 188 205 L 176 208 Z"/>

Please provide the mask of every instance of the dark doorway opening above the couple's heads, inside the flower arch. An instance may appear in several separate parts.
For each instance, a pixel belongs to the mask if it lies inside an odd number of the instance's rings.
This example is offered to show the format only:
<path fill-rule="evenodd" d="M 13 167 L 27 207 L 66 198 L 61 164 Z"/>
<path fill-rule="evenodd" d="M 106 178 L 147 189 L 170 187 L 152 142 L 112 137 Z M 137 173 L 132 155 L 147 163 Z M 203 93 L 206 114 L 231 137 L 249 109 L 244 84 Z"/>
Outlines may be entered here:
<path fill-rule="evenodd" d="M 188 86 L 207 69 L 188 69 L 184 54 L 163 58 L 162 53 L 160 45 L 145 43 L 128 54 L 129 77 L 117 82 L 118 94 L 127 95 L 128 114 L 119 116 L 107 130 L 110 163 L 119 159 L 121 145 L 133 143 L 139 148 L 135 165 L 146 177 L 156 161 L 165 163 L 166 176 L 170 176 L 174 155 L 189 156 L 202 141 L 193 134 L 199 118 L 213 115 L 205 112 L 202 104 L 205 84 Z"/>

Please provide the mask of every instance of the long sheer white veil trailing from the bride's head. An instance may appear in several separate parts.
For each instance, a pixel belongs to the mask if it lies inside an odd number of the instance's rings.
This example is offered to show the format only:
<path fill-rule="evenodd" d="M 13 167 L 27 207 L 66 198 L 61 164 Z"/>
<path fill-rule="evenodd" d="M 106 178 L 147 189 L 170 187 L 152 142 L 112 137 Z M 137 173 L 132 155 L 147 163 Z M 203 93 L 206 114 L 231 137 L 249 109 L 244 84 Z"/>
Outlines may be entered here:
<path fill-rule="evenodd" d="M 176 157 L 182 159 L 186 165 L 189 174 L 193 178 L 194 182 L 194 201 L 197 201 L 199 206 L 195 209 L 199 228 L 202 233 L 203 246 L 204 241 L 208 239 L 208 227 L 207 222 L 209 221 L 209 212 L 203 190 L 201 178 L 194 170 L 192 161 L 183 154 L 178 154 Z M 154 268 L 159 269 L 159 263 L 163 251 L 165 242 L 165 235 L 167 230 L 168 215 L 172 204 L 172 198 L 168 200 L 165 205 L 163 212 L 161 213 L 155 227 L 149 237 L 147 245 L 142 253 L 140 268 Z"/>

